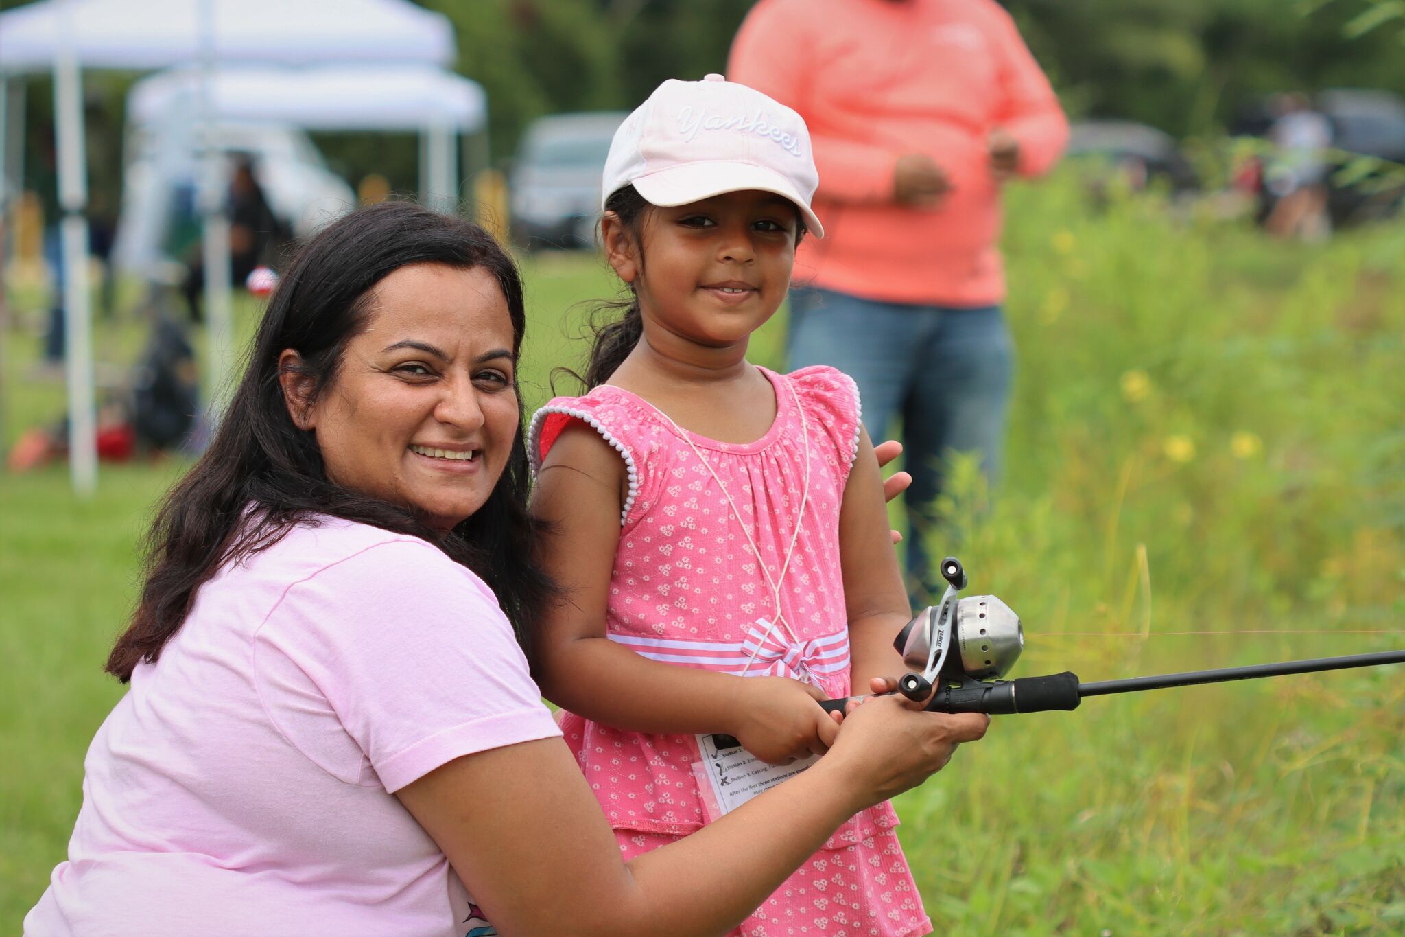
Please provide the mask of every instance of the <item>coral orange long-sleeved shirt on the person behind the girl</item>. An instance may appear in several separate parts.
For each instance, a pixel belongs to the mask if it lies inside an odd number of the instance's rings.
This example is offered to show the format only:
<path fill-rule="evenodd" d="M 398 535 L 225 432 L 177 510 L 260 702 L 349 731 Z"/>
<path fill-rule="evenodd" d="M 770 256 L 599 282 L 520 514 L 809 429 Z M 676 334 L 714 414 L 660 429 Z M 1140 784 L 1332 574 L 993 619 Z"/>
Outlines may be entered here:
<path fill-rule="evenodd" d="M 736 35 L 732 81 L 809 126 L 826 237 L 795 282 L 868 299 L 979 306 L 1005 298 L 1000 190 L 986 138 L 1020 143 L 1019 173 L 1048 170 L 1068 121 L 993 0 L 762 0 Z M 953 190 L 933 208 L 894 201 L 894 167 L 926 153 Z"/>

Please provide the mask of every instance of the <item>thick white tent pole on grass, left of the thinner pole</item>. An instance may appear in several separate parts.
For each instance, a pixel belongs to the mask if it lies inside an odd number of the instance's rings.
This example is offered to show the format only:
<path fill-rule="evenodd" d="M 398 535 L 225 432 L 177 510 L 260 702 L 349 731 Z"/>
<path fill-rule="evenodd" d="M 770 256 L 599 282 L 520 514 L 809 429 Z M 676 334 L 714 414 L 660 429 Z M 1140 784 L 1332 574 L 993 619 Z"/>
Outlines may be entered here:
<path fill-rule="evenodd" d="M 63 209 L 63 355 L 69 393 L 69 471 L 73 490 L 97 489 L 97 417 L 93 405 L 93 337 L 89 295 L 87 153 L 83 139 L 83 74 L 74 48 L 73 0 L 60 8 L 62 35 L 53 59 L 53 122 Z"/>

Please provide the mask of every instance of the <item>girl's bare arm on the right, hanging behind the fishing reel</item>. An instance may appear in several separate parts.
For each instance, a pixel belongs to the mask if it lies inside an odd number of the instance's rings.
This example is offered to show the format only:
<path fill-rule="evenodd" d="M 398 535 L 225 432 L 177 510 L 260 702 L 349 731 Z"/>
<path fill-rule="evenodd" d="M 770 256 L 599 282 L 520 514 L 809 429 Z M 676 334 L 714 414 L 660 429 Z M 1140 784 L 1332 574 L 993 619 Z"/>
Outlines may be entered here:
<path fill-rule="evenodd" d="M 853 656 L 850 693 L 861 694 L 874 677 L 896 677 L 906 670 L 892 642 L 912 620 L 898 553 L 892 549 L 882 472 L 863 427 L 839 509 L 839 562 Z"/>

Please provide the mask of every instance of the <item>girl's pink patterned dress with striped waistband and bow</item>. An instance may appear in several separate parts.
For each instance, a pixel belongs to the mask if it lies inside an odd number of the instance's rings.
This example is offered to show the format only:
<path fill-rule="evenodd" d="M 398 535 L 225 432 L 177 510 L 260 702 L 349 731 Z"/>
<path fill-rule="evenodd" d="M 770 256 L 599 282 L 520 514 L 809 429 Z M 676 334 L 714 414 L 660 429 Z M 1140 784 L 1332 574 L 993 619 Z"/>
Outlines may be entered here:
<path fill-rule="evenodd" d="M 828 367 L 762 372 L 776 389 L 777 414 L 754 443 L 687 433 L 634 393 L 603 385 L 538 410 L 527 451 L 535 472 L 561 431 L 582 420 L 625 462 L 611 641 L 681 667 L 806 679 L 843 697 L 849 625 L 839 509 L 857 451 L 858 392 Z M 766 628 L 776 617 L 771 583 L 784 622 Z M 694 736 L 622 732 L 576 714 L 563 714 L 561 726 L 625 858 L 705 823 L 691 767 L 701 757 Z M 896 826 L 888 804 L 847 820 L 733 933 L 930 933 Z"/>

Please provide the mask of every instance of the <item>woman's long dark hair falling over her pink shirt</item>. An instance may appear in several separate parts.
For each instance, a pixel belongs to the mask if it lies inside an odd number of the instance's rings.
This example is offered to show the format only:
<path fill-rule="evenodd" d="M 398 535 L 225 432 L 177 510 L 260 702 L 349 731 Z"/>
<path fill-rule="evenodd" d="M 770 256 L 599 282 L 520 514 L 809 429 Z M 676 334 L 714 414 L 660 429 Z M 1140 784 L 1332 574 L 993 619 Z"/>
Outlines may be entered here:
<path fill-rule="evenodd" d="M 333 386 L 347 343 L 374 309 L 374 288 L 407 264 L 486 270 L 497 278 L 513 323 L 513 354 L 525 327 L 517 266 L 478 225 L 410 202 L 351 212 L 312 237 L 274 291 L 254 339 L 249 368 L 214 441 L 162 503 L 145 544 L 146 582 L 107 671 L 128 681 L 142 660 L 155 662 L 223 565 L 275 544 L 295 524 L 330 514 L 424 538 L 478 573 L 496 593 L 518 641 L 525 622 L 555 594 L 534 559 L 537 523 L 527 514 L 527 448 L 518 428 L 502 478 L 488 502 L 451 531 L 437 531 L 414 510 L 327 480 L 311 431 L 288 416 L 280 384 L 284 348 L 308 378 L 311 403 Z M 516 386 L 513 388 L 517 389 Z"/>

